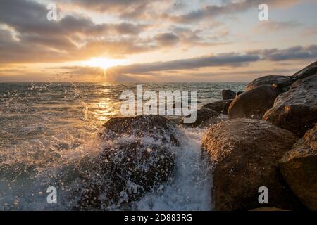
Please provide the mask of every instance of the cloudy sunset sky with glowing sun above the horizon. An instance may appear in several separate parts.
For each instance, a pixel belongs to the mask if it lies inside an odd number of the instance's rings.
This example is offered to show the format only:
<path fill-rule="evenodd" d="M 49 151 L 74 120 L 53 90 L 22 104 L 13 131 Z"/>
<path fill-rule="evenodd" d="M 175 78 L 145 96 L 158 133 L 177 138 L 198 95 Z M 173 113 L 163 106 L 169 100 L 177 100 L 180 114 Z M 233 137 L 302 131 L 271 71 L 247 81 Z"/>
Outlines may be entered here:
<path fill-rule="evenodd" d="M 316 60 L 317 0 L 0 1 L 0 82 L 249 82 Z"/>

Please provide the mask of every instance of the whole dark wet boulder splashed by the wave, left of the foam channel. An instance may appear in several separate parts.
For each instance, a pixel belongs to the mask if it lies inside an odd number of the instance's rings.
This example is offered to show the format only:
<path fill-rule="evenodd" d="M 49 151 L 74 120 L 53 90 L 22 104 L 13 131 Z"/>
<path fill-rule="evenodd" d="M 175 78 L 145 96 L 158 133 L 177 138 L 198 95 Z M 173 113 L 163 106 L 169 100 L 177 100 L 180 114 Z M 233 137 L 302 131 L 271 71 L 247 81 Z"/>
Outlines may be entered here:
<path fill-rule="evenodd" d="M 116 117 L 101 134 L 101 153 L 87 168 L 75 210 L 131 210 L 133 201 L 173 178 L 178 127 L 164 117 Z"/>

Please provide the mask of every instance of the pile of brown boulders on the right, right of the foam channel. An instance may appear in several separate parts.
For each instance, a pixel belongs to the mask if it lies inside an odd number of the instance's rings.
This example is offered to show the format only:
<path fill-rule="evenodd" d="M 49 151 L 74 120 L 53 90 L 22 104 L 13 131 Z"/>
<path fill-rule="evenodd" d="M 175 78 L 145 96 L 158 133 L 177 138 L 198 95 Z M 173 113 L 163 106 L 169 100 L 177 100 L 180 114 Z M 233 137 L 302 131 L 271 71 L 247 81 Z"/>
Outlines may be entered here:
<path fill-rule="evenodd" d="M 203 106 L 221 105 L 218 112 L 229 117 L 202 140 L 215 164 L 214 210 L 266 210 L 261 186 L 268 188 L 268 210 L 317 210 L 316 72 L 317 62 L 290 77 L 260 77 L 235 98 Z"/>

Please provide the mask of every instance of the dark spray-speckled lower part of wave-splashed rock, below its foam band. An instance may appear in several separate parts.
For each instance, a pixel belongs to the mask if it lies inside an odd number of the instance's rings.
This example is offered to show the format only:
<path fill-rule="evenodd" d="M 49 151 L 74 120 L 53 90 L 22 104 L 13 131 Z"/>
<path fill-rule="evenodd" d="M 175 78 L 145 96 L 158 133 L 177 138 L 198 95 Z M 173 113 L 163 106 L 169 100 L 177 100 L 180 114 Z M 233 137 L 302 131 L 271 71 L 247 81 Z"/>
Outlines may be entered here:
<path fill-rule="evenodd" d="M 155 186 L 173 176 L 175 154 L 163 143 L 115 143 L 91 165 L 76 210 L 131 210 Z"/>

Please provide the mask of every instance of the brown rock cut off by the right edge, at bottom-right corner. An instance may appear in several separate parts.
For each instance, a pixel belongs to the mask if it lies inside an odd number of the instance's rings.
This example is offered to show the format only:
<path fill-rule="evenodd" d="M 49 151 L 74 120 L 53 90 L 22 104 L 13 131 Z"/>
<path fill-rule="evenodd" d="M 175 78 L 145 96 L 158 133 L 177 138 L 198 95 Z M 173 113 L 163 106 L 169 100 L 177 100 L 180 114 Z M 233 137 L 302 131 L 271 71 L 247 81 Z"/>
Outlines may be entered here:
<path fill-rule="evenodd" d="M 285 153 L 280 171 L 299 200 L 317 211 L 317 124 Z"/>

